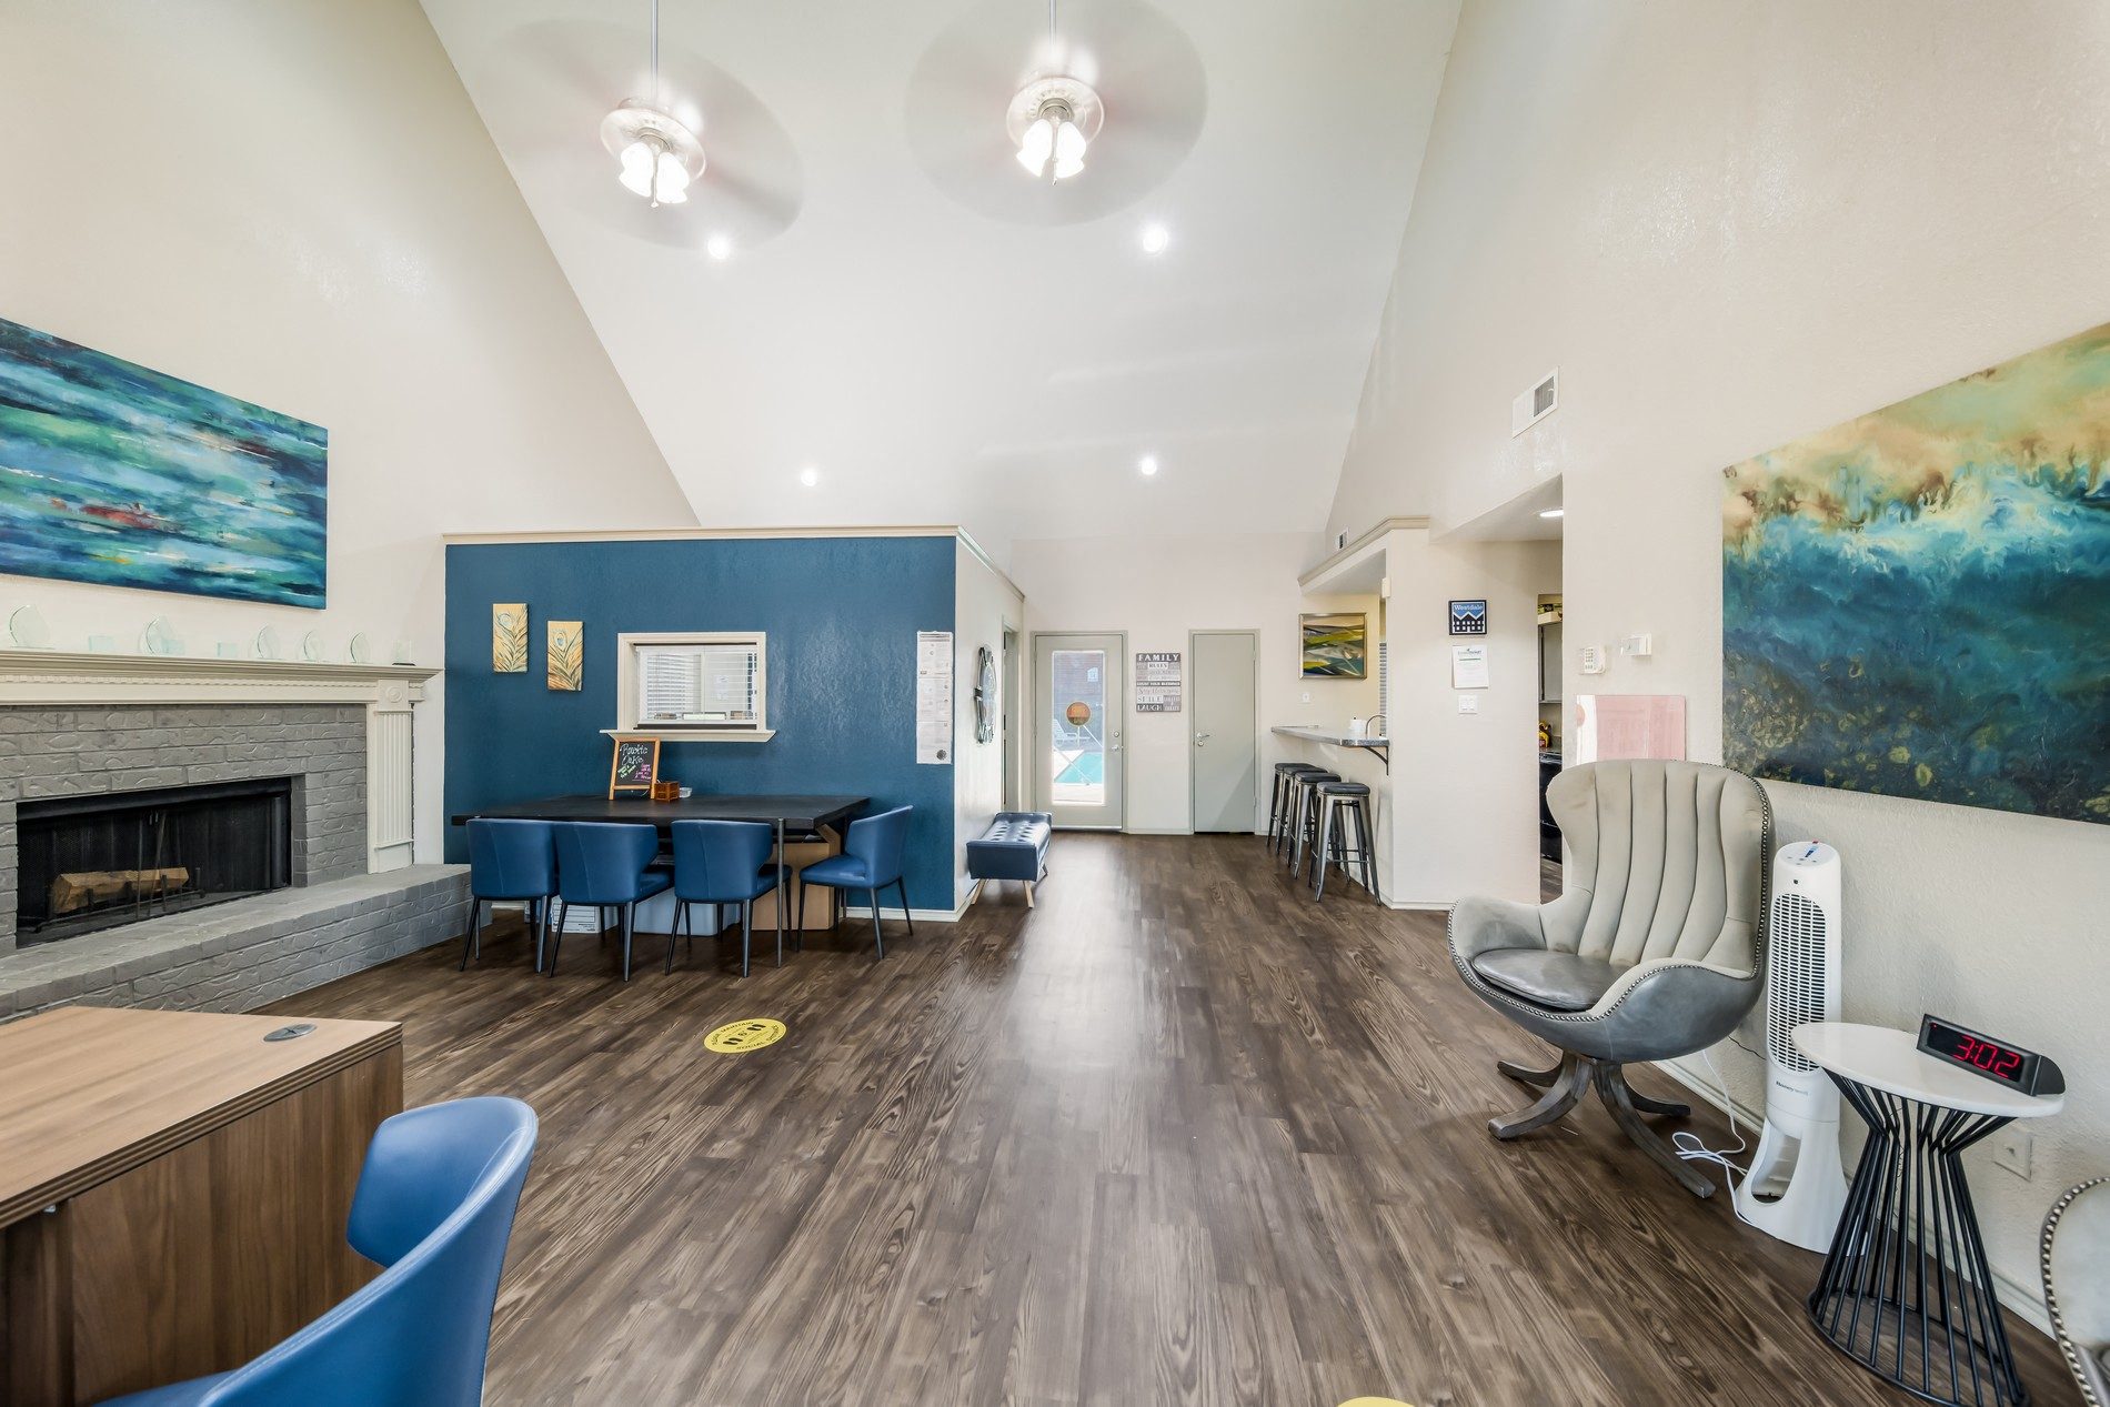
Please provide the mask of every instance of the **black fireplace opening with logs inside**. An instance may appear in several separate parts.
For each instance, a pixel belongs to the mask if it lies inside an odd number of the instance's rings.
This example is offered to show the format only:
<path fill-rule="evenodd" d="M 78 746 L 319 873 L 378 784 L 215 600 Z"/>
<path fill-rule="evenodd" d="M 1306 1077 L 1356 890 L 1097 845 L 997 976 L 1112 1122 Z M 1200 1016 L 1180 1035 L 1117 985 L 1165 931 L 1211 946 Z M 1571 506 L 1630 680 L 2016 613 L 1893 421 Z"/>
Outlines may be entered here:
<path fill-rule="evenodd" d="M 293 882 L 293 778 L 21 802 L 17 945 L 78 939 Z"/>

